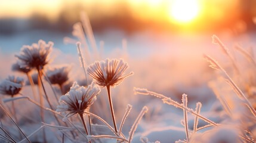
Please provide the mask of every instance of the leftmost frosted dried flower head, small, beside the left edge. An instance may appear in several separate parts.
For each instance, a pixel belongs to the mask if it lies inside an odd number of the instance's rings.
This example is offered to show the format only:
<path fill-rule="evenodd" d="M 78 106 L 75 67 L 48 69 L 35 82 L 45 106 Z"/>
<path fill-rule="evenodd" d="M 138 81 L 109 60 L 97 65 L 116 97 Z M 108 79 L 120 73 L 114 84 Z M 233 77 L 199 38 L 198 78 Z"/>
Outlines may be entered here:
<path fill-rule="evenodd" d="M 23 86 L 23 79 L 21 77 L 9 76 L 0 83 L 0 93 L 4 95 L 11 95 L 12 97 L 18 94 Z"/>

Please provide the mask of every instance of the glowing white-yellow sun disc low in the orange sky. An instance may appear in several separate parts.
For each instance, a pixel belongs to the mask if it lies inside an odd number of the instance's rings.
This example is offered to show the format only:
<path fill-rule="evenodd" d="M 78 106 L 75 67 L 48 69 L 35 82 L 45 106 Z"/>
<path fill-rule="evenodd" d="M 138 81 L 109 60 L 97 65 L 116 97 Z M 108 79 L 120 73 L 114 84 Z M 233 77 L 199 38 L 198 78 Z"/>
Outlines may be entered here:
<path fill-rule="evenodd" d="M 174 0 L 171 2 L 169 15 L 179 23 L 187 23 L 196 18 L 199 9 L 198 0 Z"/>

